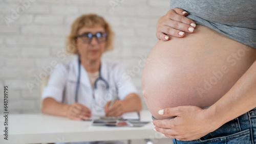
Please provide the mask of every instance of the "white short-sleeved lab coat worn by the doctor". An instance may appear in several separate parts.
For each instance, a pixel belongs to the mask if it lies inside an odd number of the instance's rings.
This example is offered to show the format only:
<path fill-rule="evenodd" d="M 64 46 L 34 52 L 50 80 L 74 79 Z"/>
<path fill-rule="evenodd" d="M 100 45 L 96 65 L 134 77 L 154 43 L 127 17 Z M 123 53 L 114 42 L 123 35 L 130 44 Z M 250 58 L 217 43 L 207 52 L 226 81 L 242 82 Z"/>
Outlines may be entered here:
<path fill-rule="evenodd" d="M 104 114 L 106 102 L 111 101 L 117 94 L 119 100 L 123 100 L 126 95 L 137 93 L 131 79 L 127 77 L 124 68 L 120 64 L 101 60 L 101 76 L 109 83 L 110 88 L 108 90 L 104 88 L 103 91 L 102 88 L 97 88 L 100 93 L 105 93 L 105 95 L 94 99 L 94 89 L 91 86 L 87 71 L 82 65 L 80 70 L 78 103 L 88 107 L 92 111 L 92 115 Z M 77 75 L 78 57 L 69 63 L 56 65 L 48 85 L 42 92 L 42 99 L 51 97 L 58 102 L 72 105 L 75 102 Z M 102 83 L 102 81 L 99 81 L 99 83 Z"/>

